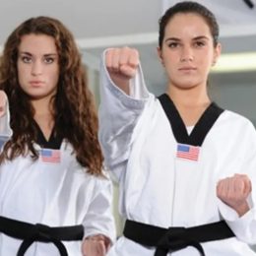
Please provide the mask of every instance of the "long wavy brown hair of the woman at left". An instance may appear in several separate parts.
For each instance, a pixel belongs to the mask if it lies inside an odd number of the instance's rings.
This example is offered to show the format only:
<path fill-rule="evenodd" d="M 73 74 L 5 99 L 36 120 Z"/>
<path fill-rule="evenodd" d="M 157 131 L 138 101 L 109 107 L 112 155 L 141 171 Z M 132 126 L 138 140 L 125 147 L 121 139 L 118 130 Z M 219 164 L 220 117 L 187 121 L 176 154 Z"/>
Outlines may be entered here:
<path fill-rule="evenodd" d="M 23 35 L 46 34 L 55 39 L 59 55 L 59 81 L 52 98 L 55 132 L 67 139 L 77 160 L 88 172 L 102 174 L 102 154 L 97 140 L 97 117 L 94 98 L 88 88 L 86 70 L 71 32 L 58 20 L 37 17 L 25 21 L 12 32 L 0 59 L 0 89 L 8 96 L 11 113 L 12 139 L 5 145 L 3 160 L 31 155 L 38 159 L 34 148 L 37 133 L 33 123 L 34 109 L 18 81 L 18 49 Z"/>

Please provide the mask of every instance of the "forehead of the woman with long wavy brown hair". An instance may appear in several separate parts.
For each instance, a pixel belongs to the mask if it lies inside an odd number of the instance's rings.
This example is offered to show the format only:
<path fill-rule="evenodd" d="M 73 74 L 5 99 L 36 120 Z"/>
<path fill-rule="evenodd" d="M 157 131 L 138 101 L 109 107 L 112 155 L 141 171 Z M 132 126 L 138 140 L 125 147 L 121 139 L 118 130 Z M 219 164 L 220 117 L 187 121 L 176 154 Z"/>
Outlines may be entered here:
<path fill-rule="evenodd" d="M 32 54 L 56 54 L 57 47 L 55 39 L 52 36 L 30 33 L 21 37 L 19 51 L 30 52 Z"/>

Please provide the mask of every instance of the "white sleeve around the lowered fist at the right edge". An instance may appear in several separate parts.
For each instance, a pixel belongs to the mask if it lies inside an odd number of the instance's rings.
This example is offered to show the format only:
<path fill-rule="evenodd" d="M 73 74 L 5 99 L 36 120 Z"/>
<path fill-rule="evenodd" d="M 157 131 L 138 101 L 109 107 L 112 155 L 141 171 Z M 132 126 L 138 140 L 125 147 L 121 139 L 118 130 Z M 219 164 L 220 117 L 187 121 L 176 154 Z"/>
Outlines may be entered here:
<path fill-rule="evenodd" d="M 252 193 L 247 199 L 250 211 L 239 218 L 238 214 L 219 199 L 219 210 L 226 224 L 235 236 L 249 244 L 256 243 L 256 132 L 252 125 L 244 130 L 246 137 L 245 157 L 241 163 L 240 173 L 246 174 L 251 180 Z M 241 137 L 242 138 L 242 137 Z M 242 139 L 241 139 L 242 140 Z"/>

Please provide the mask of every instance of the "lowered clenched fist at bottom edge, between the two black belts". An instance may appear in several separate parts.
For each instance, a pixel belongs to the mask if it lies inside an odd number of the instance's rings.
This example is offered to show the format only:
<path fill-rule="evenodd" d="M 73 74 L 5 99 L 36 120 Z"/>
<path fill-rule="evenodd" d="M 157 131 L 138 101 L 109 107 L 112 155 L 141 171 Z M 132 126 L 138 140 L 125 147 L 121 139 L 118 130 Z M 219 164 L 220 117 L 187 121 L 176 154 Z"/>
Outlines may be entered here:
<path fill-rule="evenodd" d="M 82 244 L 83 256 L 105 256 L 110 247 L 110 240 L 98 234 L 86 238 Z"/>

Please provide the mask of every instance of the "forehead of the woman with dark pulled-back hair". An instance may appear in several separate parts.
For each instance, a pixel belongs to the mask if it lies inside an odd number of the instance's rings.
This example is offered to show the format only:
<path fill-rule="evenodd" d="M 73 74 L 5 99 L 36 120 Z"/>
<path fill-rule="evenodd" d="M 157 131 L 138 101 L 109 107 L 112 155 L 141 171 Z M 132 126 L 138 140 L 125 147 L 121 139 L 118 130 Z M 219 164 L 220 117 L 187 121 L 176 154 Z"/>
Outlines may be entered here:
<path fill-rule="evenodd" d="M 173 37 L 212 37 L 206 20 L 194 13 L 179 13 L 174 15 L 165 27 L 165 36 Z"/>

